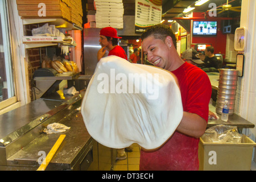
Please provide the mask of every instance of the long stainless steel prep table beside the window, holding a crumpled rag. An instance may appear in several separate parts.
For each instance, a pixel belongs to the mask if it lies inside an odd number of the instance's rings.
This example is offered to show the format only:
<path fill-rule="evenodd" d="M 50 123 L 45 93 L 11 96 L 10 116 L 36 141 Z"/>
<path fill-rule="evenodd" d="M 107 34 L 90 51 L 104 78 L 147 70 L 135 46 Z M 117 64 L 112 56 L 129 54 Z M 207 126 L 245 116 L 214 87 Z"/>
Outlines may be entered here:
<path fill-rule="evenodd" d="M 104 147 L 90 137 L 82 115 L 77 110 L 81 105 L 81 95 L 68 97 L 62 101 L 35 100 L 0 115 L 0 170 L 37 169 L 42 152 L 47 155 L 60 134 L 65 134 L 66 137 L 47 170 L 112 168 L 112 148 Z M 43 133 L 43 129 L 53 122 L 63 123 L 71 129 L 64 133 Z M 98 155 L 100 152 L 104 154 L 103 157 Z M 105 158 L 104 161 L 102 158 Z"/>

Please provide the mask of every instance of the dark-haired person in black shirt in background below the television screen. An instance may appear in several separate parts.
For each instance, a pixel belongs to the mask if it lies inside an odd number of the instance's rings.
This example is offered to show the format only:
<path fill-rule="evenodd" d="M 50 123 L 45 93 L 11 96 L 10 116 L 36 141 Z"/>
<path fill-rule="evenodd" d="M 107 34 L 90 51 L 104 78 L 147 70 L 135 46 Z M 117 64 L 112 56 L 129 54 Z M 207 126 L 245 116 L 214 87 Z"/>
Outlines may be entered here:
<path fill-rule="evenodd" d="M 217 57 L 214 55 L 214 48 L 212 46 L 208 46 L 205 48 L 205 59 L 204 63 L 207 68 L 215 68 L 218 69 L 218 60 Z"/>

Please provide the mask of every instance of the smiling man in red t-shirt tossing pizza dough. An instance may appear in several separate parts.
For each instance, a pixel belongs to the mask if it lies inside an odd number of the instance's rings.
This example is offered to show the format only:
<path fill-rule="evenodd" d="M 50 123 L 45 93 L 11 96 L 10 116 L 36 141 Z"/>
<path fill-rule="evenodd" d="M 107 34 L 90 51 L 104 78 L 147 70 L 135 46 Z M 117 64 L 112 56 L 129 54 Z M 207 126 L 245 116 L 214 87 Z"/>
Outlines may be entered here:
<path fill-rule="evenodd" d="M 155 150 L 141 150 L 140 170 L 198 170 L 199 138 L 207 127 L 212 86 L 207 74 L 183 61 L 176 51 L 171 28 L 157 24 L 143 32 L 142 50 L 156 67 L 170 71 L 179 81 L 183 118 L 175 133 Z"/>

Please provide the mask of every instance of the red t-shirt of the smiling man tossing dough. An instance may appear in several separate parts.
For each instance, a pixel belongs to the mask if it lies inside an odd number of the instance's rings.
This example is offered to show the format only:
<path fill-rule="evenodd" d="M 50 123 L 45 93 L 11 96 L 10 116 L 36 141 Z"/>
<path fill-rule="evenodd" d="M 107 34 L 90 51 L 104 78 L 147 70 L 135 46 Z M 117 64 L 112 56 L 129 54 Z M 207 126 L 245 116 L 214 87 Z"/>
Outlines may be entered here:
<path fill-rule="evenodd" d="M 179 80 L 183 110 L 196 113 L 208 121 L 212 86 L 207 74 L 192 64 L 184 63 L 173 71 Z M 159 150 L 141 151 L 140 170 L 198 170 L 199 139 L 175 131 Z"/>

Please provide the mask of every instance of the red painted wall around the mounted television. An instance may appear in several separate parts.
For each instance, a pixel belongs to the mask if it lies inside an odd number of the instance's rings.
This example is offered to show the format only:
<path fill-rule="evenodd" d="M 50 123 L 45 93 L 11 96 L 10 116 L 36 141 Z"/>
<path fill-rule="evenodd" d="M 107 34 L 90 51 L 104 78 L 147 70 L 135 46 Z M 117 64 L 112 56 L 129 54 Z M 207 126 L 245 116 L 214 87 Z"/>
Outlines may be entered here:
<path fill-rule="evenodd" d="M 193 17 L 203 17 L 202 13 L 193 13 Z M 212 20 L 212 19 L 211 19 Z M 221 20 L 217 20 L 217 36 L 212 37 L 198 37 L 192 36 L 192 43 L 209 43 L 214 47 L 214 53 L 221 53 L 223 55 L 223 59 L 225 59 L 226 53 L 226 34 L 222 34 L 221 30 Z"/>

